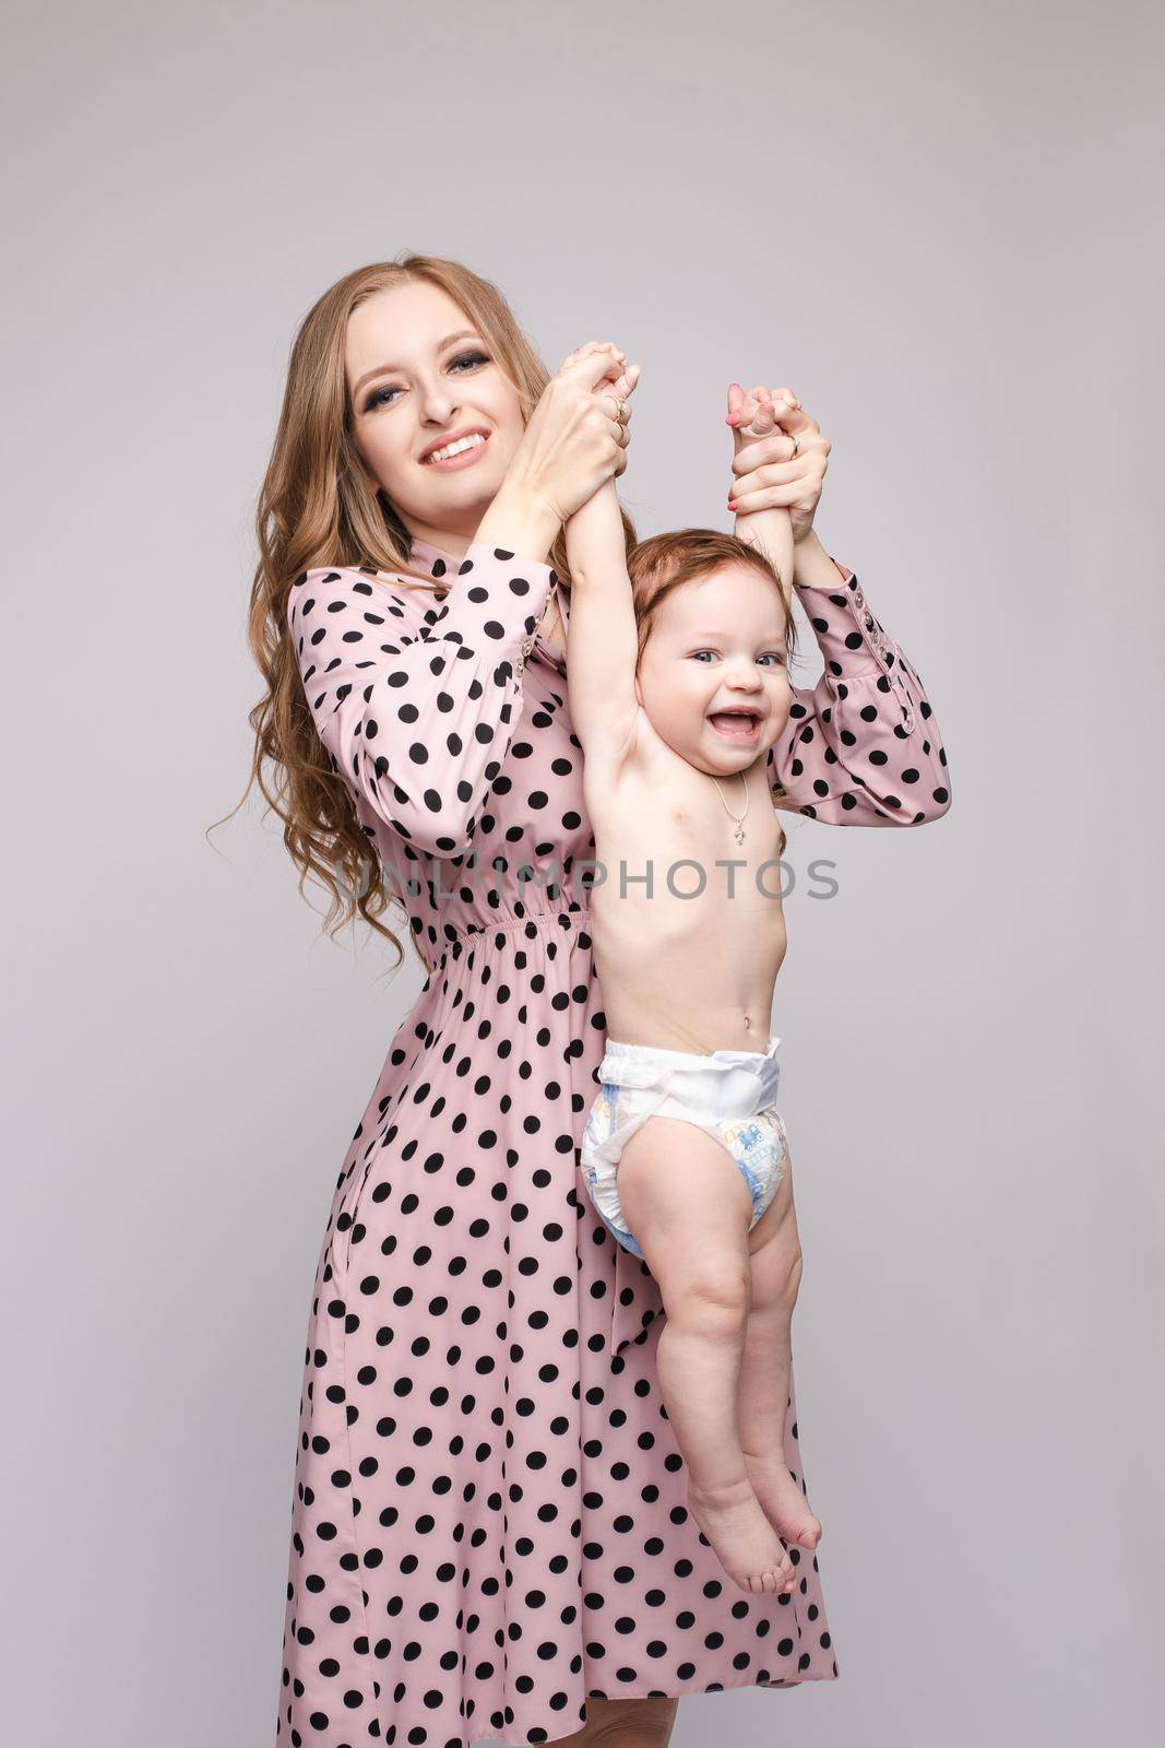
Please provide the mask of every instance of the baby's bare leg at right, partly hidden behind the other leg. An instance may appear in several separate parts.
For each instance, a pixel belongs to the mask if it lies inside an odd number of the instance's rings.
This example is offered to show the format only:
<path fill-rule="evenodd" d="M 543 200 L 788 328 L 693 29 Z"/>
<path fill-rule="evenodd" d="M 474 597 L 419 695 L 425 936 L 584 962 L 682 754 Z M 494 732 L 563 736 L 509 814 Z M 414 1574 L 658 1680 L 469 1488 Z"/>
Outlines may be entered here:
<path fill-rule="evenodd" d="M 751 1304 L 741 1360 L 741 1446 L 769 1523 L 786 1542 L 816 1547 L 821 1524 L 784 1461 L 784 1418 L 793 1363 L 791 1323 L 802 1278 L 793 1173 L 749 1234 Z"/>

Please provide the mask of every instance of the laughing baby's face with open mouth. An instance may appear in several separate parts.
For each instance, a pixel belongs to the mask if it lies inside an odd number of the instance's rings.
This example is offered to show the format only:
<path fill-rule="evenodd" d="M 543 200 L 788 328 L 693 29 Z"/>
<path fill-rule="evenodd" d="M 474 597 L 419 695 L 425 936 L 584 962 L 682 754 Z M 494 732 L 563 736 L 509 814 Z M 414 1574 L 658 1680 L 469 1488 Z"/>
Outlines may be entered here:
<path fill-rule="evenodd" d="M 672 589 L 643 650 L 636 696 L 655 732 L 699 771 L 748 769 L 789 715 L 784 603 L 776 584 L 732 561 Z"/>

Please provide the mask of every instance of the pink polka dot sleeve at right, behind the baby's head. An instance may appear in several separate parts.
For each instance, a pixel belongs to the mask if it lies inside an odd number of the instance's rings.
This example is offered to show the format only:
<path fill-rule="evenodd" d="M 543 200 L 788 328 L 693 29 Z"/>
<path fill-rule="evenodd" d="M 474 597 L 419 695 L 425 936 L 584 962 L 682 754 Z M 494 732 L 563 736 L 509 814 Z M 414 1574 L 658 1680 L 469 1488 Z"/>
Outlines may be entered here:
<path fill-rule="evenodd" d="M 810 689 L 793 687 L 788 725 L 769 752 L 774 801 L 826 825 L 924 825 L 950 808 L 934 713 L 854 572 L 837 568 L 844 587 L 796 586 L 824 673 Z"/>

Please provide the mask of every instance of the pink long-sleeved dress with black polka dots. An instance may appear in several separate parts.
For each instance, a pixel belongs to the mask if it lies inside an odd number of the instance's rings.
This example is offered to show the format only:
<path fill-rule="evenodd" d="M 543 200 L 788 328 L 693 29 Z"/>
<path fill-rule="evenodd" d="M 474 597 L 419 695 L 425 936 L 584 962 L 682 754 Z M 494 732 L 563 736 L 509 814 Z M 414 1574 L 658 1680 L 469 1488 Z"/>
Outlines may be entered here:
<path fill-rule="evenodd" d="M 589 1696 L 830 1680 L 817 1557 L 791 1547 L 793 1594 L 748 1596 L 688 1516 L 658 1288 L 580 1176 L 606 1030 L 566 662 L 534 636 L 555 573 L 480 544 L 412 556 L 437 593 L 316 568 L 288 600 L 307 708 L 430 975 L 320 1250 L 278 1738 L 545 1743 Z M 826 671 L 772 781 L 830 823 L 920 825 L 948 808 L 938 731 L 844 575 L 800 589 Z M 784 1458 L 803 1484 L 793 1393 Z"/>

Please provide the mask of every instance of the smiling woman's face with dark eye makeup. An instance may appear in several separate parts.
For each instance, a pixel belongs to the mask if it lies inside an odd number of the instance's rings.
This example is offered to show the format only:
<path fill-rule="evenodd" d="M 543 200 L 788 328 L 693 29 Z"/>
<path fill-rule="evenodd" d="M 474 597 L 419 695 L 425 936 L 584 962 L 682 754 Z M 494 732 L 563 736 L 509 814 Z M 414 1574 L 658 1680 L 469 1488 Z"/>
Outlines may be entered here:
<path fill-rule="evenodd" d="M 353 311 L 346 343 L 356 447 L 405 528 L 449 549 L 472 540 L 517 449 L 517 393 L 459 304 L 403 280 Z M 424 456 L 479 432 L 452 460 Z"/>

